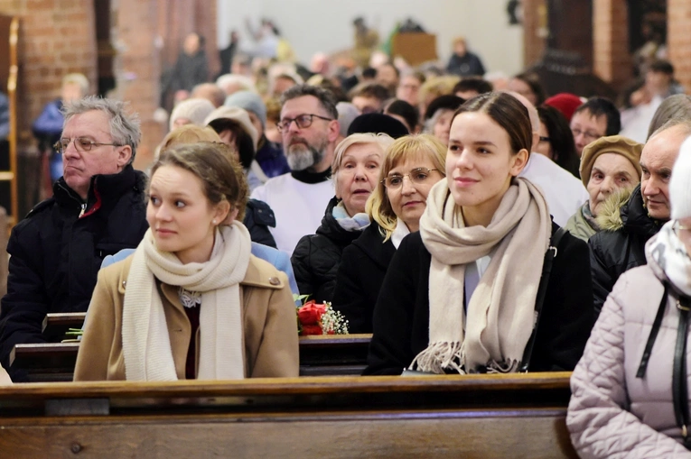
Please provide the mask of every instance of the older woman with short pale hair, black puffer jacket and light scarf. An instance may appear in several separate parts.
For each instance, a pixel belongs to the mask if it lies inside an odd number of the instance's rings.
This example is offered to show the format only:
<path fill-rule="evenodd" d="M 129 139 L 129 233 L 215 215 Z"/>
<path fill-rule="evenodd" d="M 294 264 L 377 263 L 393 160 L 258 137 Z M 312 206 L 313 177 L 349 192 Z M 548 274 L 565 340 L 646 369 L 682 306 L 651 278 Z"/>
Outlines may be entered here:
<path fill-rule="evenodd" d="M 318 302 L 331 301 L 343 249 L 369 226 L 365 204 L 377 187 L 387 134 L 354 133 L 334 152 L 331 172 L 336 196 L 331 198 L 316 234 L 303 236 L 291 262 L 297 287 Z"/>

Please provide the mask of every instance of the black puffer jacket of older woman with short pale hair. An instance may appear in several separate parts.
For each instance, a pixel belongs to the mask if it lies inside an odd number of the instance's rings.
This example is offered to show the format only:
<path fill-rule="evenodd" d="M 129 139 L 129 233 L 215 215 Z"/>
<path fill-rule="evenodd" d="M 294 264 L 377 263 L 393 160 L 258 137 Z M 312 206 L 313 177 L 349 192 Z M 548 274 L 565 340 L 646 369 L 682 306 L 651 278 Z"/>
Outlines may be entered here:
<path fill-rule="evenodd" d="M 300 294 L 310 295 L 318 303 L 333 298 L 343 248 L 362 234 L 346 231 L 339 225 L 332 214 L 338 202 L 331 197 L 317 234 L 303 236 L 290 258 Z"/>

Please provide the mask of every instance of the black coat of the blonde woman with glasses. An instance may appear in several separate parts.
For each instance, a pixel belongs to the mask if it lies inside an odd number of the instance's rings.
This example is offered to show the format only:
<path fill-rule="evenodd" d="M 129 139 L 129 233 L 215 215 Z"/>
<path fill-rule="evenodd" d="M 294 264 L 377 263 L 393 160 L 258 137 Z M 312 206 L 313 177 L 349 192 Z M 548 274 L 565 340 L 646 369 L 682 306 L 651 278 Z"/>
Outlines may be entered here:
<path fill-rule="evenodd" d="M 379 289 L 396 247 L 372 222 L 362 235 L 343 249 L 336 275 L 333 308 L 348 319 L 350 333 L 372 333 L 372 313 Z"/>

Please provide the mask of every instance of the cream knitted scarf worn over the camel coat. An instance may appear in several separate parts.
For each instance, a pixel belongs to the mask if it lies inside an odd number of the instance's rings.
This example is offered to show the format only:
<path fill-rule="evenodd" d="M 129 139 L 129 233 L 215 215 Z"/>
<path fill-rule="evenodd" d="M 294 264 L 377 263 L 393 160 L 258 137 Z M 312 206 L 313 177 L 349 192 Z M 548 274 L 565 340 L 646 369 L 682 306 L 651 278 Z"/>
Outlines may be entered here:
<path fill-rule="evenodd" d="M 211 258 L 203 263 L 182 264 L 173 253 L 159 251 L 151 230 L 146 232 L 127 276 L 123 306 L 127 381 L 177 380 L 156 280 L 201 292 L 198 379 L 245 377 L 239 282 L 250 250 L 247 228 L 238 222 L 216 232 Z"/>

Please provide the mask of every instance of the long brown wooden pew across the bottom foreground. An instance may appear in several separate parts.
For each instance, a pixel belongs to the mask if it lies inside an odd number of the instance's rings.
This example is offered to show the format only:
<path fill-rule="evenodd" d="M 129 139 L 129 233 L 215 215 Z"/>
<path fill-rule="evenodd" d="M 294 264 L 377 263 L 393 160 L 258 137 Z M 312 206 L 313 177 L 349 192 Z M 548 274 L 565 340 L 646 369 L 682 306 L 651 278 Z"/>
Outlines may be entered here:
<path fill-rule="evenodd" d="M 569 373 L 0 388 L 0 451 L 33 457 L 575 458 Z"/>

